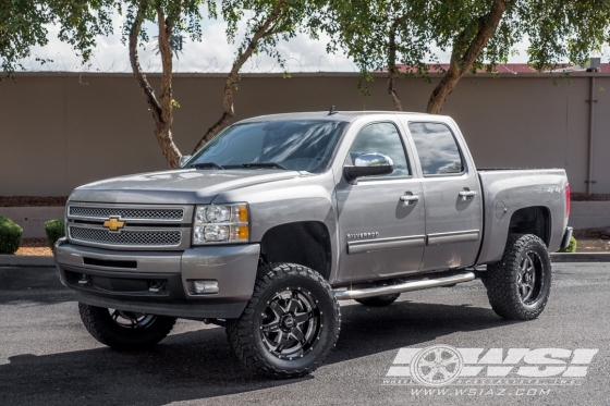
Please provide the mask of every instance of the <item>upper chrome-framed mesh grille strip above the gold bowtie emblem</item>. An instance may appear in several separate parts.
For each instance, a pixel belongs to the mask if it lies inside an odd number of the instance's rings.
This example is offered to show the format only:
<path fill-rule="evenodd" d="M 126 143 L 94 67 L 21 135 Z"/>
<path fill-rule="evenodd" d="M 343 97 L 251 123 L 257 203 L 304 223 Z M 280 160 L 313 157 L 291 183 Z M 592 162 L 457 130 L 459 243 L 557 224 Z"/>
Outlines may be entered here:
<path fill-rule="evenodd" d="M 127 209 L 70 206 L 69 216 L 94 219 L 119 217 L 123 220 L 182 220 L 184 218 L 184 209 Z"/>

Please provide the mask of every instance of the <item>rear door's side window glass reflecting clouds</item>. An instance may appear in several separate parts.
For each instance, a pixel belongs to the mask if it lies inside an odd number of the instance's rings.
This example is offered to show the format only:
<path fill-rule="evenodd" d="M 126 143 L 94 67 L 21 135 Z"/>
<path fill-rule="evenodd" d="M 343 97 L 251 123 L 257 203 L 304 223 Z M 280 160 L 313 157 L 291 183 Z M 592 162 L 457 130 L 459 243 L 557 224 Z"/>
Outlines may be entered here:
<path fill-rule="evenodd" d="M 464 172 L 464 162 L 451 130 L 440 123 L 408 123 L 422 171 L 426 175 Z"/>

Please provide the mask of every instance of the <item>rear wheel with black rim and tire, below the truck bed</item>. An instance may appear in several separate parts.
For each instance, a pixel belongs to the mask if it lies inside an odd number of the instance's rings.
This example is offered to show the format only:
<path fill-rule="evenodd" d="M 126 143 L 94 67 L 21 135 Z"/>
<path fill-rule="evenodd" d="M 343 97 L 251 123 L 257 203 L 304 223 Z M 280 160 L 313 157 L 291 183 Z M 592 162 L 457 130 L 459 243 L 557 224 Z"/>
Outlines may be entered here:
<path fill-rule="evenodd" d="M 512 320 L 537 318 L 549 299 L 551 259 L 545 243 L 532 234 L 511 234 L 499 262 L 484 276 L 487 297 L 499 316 Z"/>

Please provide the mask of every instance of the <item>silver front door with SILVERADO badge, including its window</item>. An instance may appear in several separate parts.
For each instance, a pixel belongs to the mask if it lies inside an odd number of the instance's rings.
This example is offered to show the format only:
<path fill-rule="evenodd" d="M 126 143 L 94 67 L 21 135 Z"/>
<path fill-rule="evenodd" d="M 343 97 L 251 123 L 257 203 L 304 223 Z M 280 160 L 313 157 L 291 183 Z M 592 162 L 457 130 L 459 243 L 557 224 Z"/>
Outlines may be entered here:
<path fill-rule="evenodd" d="M 389 156 L 391 174 L 343 179 L 337 186 L 341 263 L 339 280 L 359 281 L 416 272 L 425 246 L 422 182 L 413 176 L 404 139 L 394 123 L 365 125 L 346 164 L 364 153 Z"/>

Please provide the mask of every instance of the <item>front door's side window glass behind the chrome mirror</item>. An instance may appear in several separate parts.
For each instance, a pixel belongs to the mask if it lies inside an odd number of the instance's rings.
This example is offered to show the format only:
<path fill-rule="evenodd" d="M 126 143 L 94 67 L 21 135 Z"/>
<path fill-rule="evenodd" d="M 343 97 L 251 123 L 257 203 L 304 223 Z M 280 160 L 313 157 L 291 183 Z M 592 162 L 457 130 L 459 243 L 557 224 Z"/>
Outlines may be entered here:
<path fill-rule="evenodd" d="M 345 158 L 345 164 L 353 164 L 356 157 L 363 153 L 382 153 L 392 159 L 394 171 L 385 176 L 411 175 L 401 136 L 392 123 L 374 123 L 361 130 Z"/>

